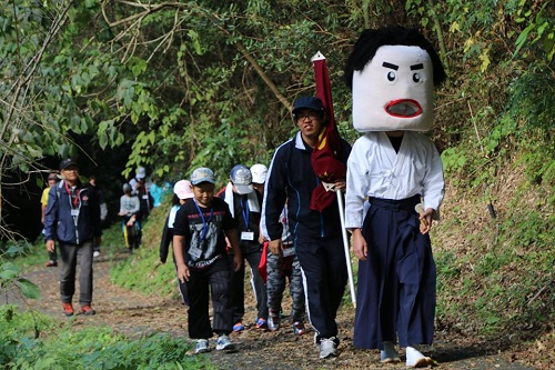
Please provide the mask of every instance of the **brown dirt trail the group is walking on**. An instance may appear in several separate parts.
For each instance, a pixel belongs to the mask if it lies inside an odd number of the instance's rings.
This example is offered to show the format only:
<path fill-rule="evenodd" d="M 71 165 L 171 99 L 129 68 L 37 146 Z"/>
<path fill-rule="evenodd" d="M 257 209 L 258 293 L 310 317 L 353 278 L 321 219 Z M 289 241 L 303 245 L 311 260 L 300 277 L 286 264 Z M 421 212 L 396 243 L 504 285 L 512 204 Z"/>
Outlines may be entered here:
<path fill-rule="evenodd" d="M 117 259 L 129 258 L 119 253 Z M 77 314 L 74 326 L 108 326 L 123 332 L 130 338 L 138 338 L 152 331 L 162 331 L 186 339 L 186 308 L 176 299 L 155 296 L 143 296 L 117 287 L 110 282 L 109 270 L 114 262 L 100 256 L 94 259 L 94 294 L 92 307 L 95 316 Z M 79 271 L 78 271 L 79 273 Z M 34 267 L 26 273 L 26 278 L 37 283 L 41 290 L 41 299 L 26 302 L 31 309 L 52 314 L 60 320 L 67 320 L 62 314 L 59 297 L 59 268 Z M 245 287 L 251 294 L 251 289 Z M 175 288 L 176 289 L 176 288 Z M 79 284 L 77 287 L 79 292 Z M 78 294 L 74 297 L 74 307 Z M 284 299 L 284 310 L 287 306 Z M 22 302 L 19 302 L 23 304 Z M 356 349 L 352 344 L 352 328 L 354 309 L 345 306 L 340 309 L 337 323 L 340 326 L 340 354 L 333 359 L 320 360 L 319 351 L 313 342 L 314 333 L 309 331 L 301 337 L 293 336 L 289 318 L 282 319 L 279 331 L 269 332 L 254 328 L 254 299 L 245 299 L 246 329 L 242 333 L 232 333 L 231 339 L 238 347 L 234 353 L 215 351 L 215 338 L 210 341 L 206 356 L 219 369 L 249 370 L 291 370 L 291 369 L 405 369 L 404 352 L 400 351 L 402 362 L 382 364 L 379 362 L 377 350 Z M 78 307 L 75 307 L 78 311 Z M 486 342 L 478 338 L 466 338 L 460 333 L 436 332 L 433 347 L 425 348 L 424 354 L 431 356 L 436 362 L 436 369 L 506 369 L 547 370 L 549 363 L 538 366 L 537 356 L 523 347 L 508 347 L 498 342 Z M 541 362 L 541 361 L 539 361 Z M 548 362 L 548 361 L 545 361 Z"/>

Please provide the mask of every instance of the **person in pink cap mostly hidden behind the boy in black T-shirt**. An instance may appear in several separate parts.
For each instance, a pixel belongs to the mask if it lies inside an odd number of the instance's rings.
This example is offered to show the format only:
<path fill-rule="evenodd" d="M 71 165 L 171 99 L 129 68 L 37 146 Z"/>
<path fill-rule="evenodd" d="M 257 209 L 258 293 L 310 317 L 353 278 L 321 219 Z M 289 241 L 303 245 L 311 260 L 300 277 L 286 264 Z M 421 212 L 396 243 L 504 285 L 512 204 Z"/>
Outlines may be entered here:
<path fill-rule="evenodd" d="M 173 241 L 173 223 L 175 222 L 175 214 L 178 210 L 183 206 L 188 200 L 193 199 L 193 187 L 189 180 L 180 180 L 175 182 L 173 186 L 173 198 L 172 198 L 172 208 L 170 209 L 170 213 L 168 214 L 164 229 L 162 231 L 162 238 L 160 240 L 160 262 L 165 263 L 168 260 L 168 254 L 170 252 L 170 243 Z M 175 270 L 178 266 L 175 263 L 175 253 L 172 253 L 173 264 L 175 264 Z M 178 279 L 179 291 L 181 293 L 181 298 L 183 303 L 189 306 L 189 299 L 186 294 L 186 286 Z"/>

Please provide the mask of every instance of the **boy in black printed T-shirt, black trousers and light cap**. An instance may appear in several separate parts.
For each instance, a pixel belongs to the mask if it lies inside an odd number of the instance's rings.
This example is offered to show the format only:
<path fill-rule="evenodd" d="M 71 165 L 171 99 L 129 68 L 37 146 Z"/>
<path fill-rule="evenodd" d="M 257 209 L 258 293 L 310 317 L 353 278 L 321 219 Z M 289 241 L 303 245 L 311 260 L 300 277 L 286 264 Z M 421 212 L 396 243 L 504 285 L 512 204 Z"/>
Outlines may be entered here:
<path fill-rule="evenodd" d="M 235 349 L 229 334 L 233 329 L 230 304 L 232 269 L 238 271 L 242 257 L 238 231 L 228 203 L 214 198 L 215 178 L 209 168 L 191 174 L 193 201 L 185 202 L 175 214 L 173 247 L 178 279 L 186 284 L 189 294 L 188 330 L 196 339 L 195 353 L 209 351 L 209 339 L 218 334 L 216 350 Z M 226 241 L 233 249 L 233 267 L 226 258 Z M 213 322 L 210 324 L 209 298 L 212 291 Z"/>

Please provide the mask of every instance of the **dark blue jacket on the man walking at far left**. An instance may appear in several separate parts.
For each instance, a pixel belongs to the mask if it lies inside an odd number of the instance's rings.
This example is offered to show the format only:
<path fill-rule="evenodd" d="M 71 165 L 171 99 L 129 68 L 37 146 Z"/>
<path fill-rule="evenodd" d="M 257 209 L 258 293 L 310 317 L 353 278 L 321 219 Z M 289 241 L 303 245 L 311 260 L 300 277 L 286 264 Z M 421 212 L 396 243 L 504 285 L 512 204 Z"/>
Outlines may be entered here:
<path fill-rule="evenodd" d="M 74 193 L 72 202 L 64 180 L 50 188 L 44 211 L 46 240 L 80 246 L 102 234 L 100 201 L 94 189 L 79 182 Z"/>

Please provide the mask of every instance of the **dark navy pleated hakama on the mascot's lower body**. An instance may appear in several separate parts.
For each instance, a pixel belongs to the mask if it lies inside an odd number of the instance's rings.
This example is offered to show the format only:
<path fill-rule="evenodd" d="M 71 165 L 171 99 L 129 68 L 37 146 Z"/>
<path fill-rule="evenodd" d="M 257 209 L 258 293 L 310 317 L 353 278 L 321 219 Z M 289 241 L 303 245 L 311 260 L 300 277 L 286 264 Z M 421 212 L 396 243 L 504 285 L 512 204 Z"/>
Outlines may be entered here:
<path fill-rule="evenodd" d="M 371 198 L 362 234 L 369 246 L 359 262 L 354 346 L 383 349 L 431 344 L 435 317 L 435 262 L 430 236 L 420 232 L 414 206 L 405 200 Z"/>

